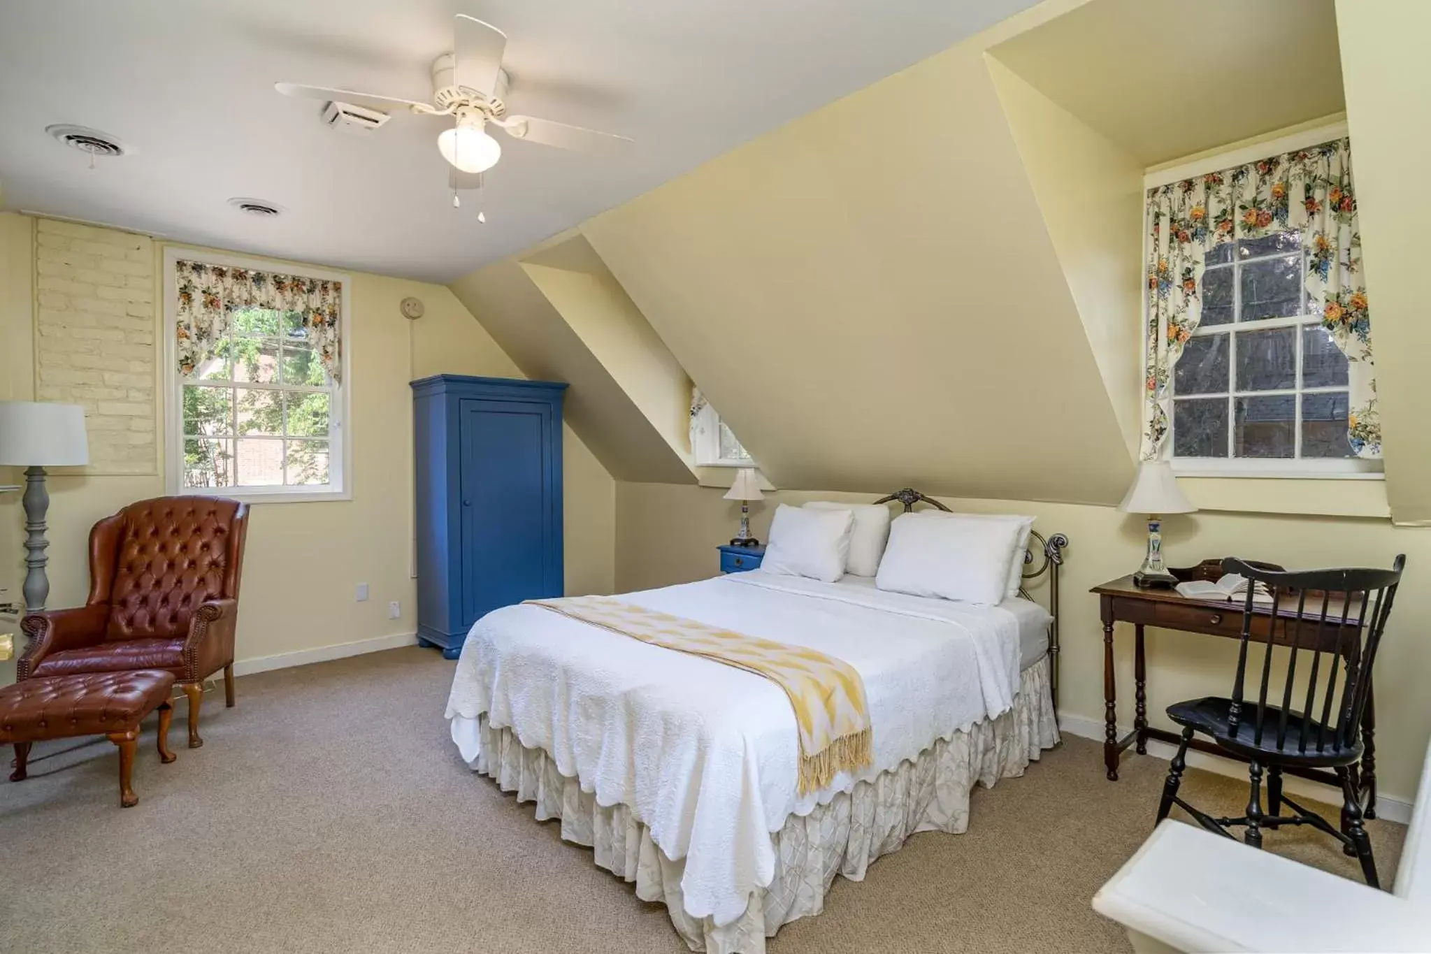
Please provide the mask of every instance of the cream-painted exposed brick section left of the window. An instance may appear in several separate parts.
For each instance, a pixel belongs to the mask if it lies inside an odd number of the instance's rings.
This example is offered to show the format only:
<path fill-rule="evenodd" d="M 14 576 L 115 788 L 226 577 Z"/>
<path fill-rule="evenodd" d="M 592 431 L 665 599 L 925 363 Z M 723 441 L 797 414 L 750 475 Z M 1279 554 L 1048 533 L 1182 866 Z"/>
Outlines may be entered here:
<path fill-rule="evenodd" d="M 84 406 L 90 472 L 156 473 L 153 239 L 40 219 L 36 398 Z"/>

